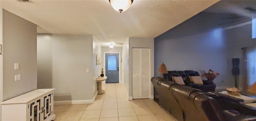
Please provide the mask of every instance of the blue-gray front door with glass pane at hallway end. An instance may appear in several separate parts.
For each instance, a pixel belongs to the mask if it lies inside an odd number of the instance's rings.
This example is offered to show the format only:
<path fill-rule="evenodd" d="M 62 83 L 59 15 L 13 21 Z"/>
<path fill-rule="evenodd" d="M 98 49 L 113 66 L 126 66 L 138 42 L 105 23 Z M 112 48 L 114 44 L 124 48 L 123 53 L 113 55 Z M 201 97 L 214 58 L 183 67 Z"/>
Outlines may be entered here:
<path fill-rule="evenodd" d="M 106 83 L 119 83 L 119 54 L 106 54 Z"/>

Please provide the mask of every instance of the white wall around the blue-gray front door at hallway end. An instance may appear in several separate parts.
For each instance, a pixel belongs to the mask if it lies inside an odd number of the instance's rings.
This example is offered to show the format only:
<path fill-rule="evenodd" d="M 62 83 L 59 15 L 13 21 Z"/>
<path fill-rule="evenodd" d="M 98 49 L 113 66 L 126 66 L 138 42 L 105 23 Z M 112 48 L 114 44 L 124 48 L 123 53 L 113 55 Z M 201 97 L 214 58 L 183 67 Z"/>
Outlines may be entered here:
<path fill-rule="evenodd" d="M 102 68 L 104 70 L 104 74 L 106 75 L 106 53 L 119 53 L 119 82 L 122 83 L 122 47 L 114 46 L 114 48 L 109 47 L 102 47 L 102 57 L 100 58 L 100 61 L 102 61 Z M 104 60 L 105 59 L 105 60 Z M 106 83 L 106 81 L 103 81 L 102 83 Z"/>

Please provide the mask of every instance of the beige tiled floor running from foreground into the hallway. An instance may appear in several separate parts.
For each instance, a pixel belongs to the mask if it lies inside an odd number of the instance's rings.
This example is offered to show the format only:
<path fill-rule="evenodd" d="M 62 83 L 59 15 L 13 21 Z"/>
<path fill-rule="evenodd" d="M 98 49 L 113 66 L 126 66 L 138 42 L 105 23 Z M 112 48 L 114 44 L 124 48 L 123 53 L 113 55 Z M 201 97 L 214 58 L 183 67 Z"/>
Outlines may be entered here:
<path fill-rule="evenodd" d="M 54 121 L 176 121 L 153 99 L 128 101 L 121 83 L 103 83 L 93 104 L 54 105 Z"/>

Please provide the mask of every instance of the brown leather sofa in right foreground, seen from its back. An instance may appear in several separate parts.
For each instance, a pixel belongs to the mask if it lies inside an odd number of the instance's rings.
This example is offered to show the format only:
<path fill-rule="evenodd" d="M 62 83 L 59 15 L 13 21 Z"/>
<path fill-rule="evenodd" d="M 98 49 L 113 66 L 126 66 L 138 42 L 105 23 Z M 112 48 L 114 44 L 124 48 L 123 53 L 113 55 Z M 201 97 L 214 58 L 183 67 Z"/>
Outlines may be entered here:
<path fill-rule="evenodd" d="M 178 121 L 256 121 L 253 116 L 232 116 L 201 90 L 152 77 L 154 97 Z"/>

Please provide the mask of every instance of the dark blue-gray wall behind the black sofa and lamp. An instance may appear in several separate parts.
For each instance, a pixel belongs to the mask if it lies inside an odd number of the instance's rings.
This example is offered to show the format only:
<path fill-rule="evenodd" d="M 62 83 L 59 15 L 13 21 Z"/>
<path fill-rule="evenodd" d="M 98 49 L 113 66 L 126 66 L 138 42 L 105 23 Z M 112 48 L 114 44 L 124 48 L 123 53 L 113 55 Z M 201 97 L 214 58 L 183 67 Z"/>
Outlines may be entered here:
<path fill-rule="evenodd" d="M 251 39 L 251 24 L 224 24 L 221 18 L 234 17 L 230 14 L 199 13 L 182 24 L 154 39 L 155 76 L 164 62 L 168 70 L 212 69 L 220 73 L 214 83 L 217 89 L 234 87 L 232 58 L 243 62 L 243 47 L 255 47 Z M 240 76 L 240 80 L 242 76 Z M 242 83 L 242 82 L 241 82 Z"/>

